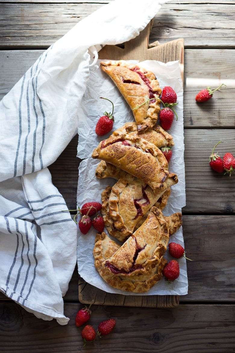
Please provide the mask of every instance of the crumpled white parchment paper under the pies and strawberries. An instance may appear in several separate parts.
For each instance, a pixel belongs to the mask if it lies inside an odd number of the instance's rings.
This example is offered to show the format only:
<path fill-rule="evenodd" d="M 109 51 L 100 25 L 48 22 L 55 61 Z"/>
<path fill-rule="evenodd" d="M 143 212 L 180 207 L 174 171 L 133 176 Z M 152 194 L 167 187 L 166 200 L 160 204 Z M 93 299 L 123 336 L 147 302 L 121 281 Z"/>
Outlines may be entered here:
<path fill-rule="evenodd" d="M 116 85 L 109 76 L 104 73 L 97 61 L 97 65 L 91 67 L 90 78 L 85 92 L 84 100 L 79 111 L 79 143 L 78 157 L 83 159 L 79 166 L 77 205 L 82 207 L 85 202 L 98 201 L 101 202 L 101 192 L 107 185 L 114 185 L 116 180 L 107 178 L 100 180 L 95 177 L 95 169 L 100 162 L 92 159 L 91 155 L 99 144 L 105 138 L 108 138 L 112 131 L 121 127 L 128 121 L 134 121 L 134 115 L 120 94 Z M 105 61 L 105 60 L 102 60 Z M 130 61 L 130 60 L 129 60 Z M 131 60 L 130 62 L 138 62 Z M 139 65 L 147 70 L 154 72 L 160 87 L 171 86 L 177 93 L 178 105 L 175 110 L 178 120 L 174 118 L 171 129 L 168 131 L 174 138 L 175 145 L 172 148 L 172 159 L 169 162 L 169 171 L 178 175 L 178 184 L 171 187 L 171 195 L 168 199 L 167 206 L 163 209 L 163 215 L 168 216 L 175 212 L 181 212 L 185 206 L 185 167 L 184 167 L 184 130 L 183 130 L 183 84 L 178 61 L 168 62 L 167 64 L 160 61 L 146 60 L 140 62 Z M 105 97 L 114 103 L 115 123 L 113 130 L 105 136 L 98 137 L 95 134 L 95 126 L 104 112 L 111 112 L 112 105 L 109 101 L 100 99 Z M 106 231 L 106 229 L 105 229 Z M 138 295 L 138 293 L 130 293 L 120 291 L 109 286 L 99 275 L 94 267 L 93 247 L 94 239 L 97 231 L 92 227 L 86 234 L 81 234 L 78 229 L 78 271 L 80 276 L 91 285 L 102 289 L 109 293 L 119 293 L 124 295 Z M 109 233 L 106 231 L 109 235 Z M 117 241 L 115 238 L 112 240 Z M 184 246 L 182 227 L 170 237 L 169 242 L 175 241 Z M 118 242 L 118 241 L 117 241 Z M 167 260 L 171 260 L 168 250 L 164 256 Z M 177 280 L 169 284 L 165 279 L 161 279 L 148 292 L 140 295 L 184 295 L 187 294 L 187 270 L 185 258 L 178 260 L 180 266 L 180 276 Z"/>

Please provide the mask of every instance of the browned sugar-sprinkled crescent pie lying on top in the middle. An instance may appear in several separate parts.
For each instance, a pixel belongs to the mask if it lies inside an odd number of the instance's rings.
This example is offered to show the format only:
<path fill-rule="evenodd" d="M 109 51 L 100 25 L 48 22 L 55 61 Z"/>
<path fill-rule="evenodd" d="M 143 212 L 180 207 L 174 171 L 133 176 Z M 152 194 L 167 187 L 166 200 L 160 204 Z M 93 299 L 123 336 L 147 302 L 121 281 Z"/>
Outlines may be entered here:
<path fill-rule="evenodd" d="M 101 141 L 94 149 L 92 158 L 125 170 L 153 190 L 164 189 L 169 176 L 168 163 L 160 149 L 143 138 L 129 134 L 111 136 Z"/>

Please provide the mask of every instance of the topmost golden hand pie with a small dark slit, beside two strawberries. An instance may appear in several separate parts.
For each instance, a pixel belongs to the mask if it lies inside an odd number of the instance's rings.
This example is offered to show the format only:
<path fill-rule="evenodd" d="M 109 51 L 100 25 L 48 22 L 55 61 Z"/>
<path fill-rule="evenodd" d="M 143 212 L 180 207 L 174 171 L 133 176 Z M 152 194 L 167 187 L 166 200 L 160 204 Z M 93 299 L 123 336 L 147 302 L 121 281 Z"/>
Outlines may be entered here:
<path fill-rule="evenodd" d="M 111 77 L 131 107 L 137 130 L 144 131 L 153 127 L 160 111 L 160 100 L 157 98 L 162 92 L 154 73 L 124 60 L 101 61 L 100 67 Z"/>

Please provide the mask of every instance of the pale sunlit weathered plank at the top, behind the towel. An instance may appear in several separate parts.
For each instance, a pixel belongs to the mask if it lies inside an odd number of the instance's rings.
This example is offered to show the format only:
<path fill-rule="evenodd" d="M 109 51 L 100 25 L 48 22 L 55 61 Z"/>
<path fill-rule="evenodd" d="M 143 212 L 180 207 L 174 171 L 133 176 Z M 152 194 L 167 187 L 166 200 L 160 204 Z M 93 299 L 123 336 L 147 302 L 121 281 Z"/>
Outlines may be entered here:
<path fill-rule="evenodd" d="M 1 2 L 0 48 L 48 47 L 104 2 Z M 185 47 L 234 48 L 230 1 L 178 1 L 162 5 L 150 35 L 161 44 L 183 37 Z"/>

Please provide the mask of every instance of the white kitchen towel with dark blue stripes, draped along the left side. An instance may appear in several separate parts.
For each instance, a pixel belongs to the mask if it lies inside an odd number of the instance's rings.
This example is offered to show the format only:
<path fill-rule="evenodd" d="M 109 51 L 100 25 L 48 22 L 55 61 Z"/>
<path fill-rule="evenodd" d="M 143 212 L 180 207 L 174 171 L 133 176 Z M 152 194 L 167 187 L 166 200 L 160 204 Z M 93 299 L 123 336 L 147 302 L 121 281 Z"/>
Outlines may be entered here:
<path fill-rule="evenodd" d="M 0 291 L 37 317 L 68 322 L 62 297 L 76 263 L 76 224 L 47 167 L 79 133 L 98 51 L 136 37 L 165 2 L 102 6 L 49 47 L 0 102 Z"/>

